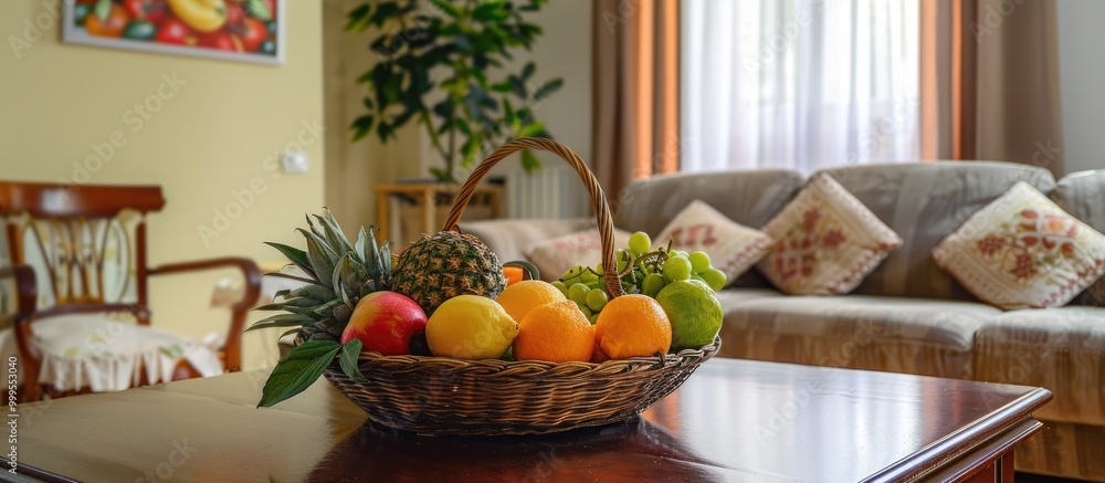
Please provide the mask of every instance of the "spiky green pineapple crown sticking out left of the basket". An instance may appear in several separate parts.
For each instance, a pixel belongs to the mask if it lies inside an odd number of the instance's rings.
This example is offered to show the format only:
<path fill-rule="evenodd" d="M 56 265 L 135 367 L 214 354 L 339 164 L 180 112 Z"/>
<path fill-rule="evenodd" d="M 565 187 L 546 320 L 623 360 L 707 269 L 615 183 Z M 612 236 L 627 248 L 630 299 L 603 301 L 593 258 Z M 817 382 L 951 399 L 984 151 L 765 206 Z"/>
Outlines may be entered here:
<path fill-rule="evenodd" d="M 354 307 L 360 297 L 388 290 L 391 283 L 391 250 L 388 242 L 376 243 L 375 227 L 361 227 L 356 243 L 349 243 L 337 220 L 328 209 L 325 217 L 315 216 L 318 227 L 307 217 L 308 229 L 296 229 L 304 235 L 307 250 L 281 243 L 266 242 L 292 264 L 307 274 L 307 279 L 287 273 L 270 275 L 305 282 L 306 285 L 281 291 L 282 298 L 259 311 L 284 311 L 254 324 L 250 329 L 265 327 L 296 327 L 284 335 L 298 332 L 307 340 L 338 342 Z"/>

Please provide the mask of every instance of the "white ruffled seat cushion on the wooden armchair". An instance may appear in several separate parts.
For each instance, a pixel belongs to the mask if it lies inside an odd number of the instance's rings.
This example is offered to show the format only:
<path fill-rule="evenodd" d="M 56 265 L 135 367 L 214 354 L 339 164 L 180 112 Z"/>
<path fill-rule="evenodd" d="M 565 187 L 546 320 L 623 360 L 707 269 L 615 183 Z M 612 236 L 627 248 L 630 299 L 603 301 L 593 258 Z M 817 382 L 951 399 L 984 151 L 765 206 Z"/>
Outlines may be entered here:
<path fill-rule="evenodd" d="M 181 360 L 204 377 L 222 374 L 217 347 L 101 314 L 43 318 L 31 328 L 32 347 L 42 358 L 39 382 L 59 391 L 124 390 L 137 386 L 143 376 L 148 384 L 168 382 Z M 18 357 L 11 329 L 0 333 L 0 351 Z"/>

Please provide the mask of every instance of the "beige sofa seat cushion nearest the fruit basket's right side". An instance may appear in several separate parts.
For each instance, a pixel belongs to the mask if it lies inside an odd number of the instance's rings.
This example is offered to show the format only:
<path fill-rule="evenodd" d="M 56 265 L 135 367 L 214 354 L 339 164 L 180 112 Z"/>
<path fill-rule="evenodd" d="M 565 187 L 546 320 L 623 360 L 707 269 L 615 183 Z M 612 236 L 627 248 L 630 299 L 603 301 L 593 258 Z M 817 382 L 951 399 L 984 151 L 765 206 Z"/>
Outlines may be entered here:
<path fill-rule="evenodd" d="M 722 298 L 722 308 L 723 356 L 954 378 L 970 375 L 975 330 L 1000 313 L 871 295 Z"/>

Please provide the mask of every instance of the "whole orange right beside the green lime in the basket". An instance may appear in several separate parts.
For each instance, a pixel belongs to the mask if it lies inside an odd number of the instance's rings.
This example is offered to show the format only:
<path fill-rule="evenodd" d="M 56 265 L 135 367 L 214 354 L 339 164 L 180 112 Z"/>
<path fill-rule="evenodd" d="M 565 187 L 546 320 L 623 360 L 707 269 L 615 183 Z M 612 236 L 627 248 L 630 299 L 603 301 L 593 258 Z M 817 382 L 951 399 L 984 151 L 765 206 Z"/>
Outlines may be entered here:
<path fill-rule="evenodd" d="M 672 323 L 648 295 L 622 295 L 607 303 L 594 323 L 596 346 L 611 359 L 663 355 L 672 348 Z"/>

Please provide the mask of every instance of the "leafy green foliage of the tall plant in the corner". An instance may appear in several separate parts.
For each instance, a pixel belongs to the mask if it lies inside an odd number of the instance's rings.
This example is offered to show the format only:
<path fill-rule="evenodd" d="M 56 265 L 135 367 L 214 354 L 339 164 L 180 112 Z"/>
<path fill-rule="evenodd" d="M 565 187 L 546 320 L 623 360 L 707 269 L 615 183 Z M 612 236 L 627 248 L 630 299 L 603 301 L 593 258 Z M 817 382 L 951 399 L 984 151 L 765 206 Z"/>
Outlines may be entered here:
<path fill-rule="evenodd" d="M 375 133 L 381 141 L 417 123 L 429 135 L 444 168 L 430 172 L 455 182 L 491 147 L 522 136 L 550 137 L 534 111 L 562 84 L 534 81 L 536 65 L 509 72 L 518 48 L 541 33 L 525 15 L 547 0 L 400 0 L 366 2 L 348 14 L 347 31 L 379 30 L 370 43 L 377 62 L 357 82 L 366 85 L 367 112 L 354 120 L 354 141 Z M 526 170 L 540 167 L 522 153 Z"/>

